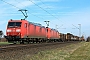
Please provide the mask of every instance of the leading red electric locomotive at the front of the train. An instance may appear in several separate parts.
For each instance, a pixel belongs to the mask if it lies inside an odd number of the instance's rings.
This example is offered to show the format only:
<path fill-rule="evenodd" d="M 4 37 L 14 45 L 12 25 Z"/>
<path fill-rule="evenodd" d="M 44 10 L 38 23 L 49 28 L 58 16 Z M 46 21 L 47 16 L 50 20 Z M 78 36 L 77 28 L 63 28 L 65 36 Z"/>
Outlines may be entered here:
<path fill-rule="evenodd" d="M 37 23 L 27 20 L 10 20 L 7 25 L 5 38 L 9 42 L 41 41 L 46 39 L 46 28 Z"/>

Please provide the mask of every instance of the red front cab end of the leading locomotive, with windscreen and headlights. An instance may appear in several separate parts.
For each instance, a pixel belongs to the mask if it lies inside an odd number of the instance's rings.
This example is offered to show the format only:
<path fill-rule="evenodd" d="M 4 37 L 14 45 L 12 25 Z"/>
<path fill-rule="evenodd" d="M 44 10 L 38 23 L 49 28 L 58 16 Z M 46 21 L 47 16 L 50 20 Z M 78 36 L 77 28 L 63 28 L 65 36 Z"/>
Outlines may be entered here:
<path fill-rule="evenodd" d="M 26 36 L 28 36 L 28 21 L 11 19 L 8 22 L 5 36 L 8 42 L 19 41 Z"/>

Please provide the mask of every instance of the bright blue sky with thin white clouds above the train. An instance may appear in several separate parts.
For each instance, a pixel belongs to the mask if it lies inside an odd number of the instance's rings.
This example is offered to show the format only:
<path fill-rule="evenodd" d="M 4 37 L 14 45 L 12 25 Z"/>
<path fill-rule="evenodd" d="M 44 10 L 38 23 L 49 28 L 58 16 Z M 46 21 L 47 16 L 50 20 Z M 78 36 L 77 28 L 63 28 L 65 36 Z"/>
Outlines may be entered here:
<path fill-rule="evenodd" d="M 90 36 L 90 0 L 0 0 L 0 30 L 6 34 L 10 19 L 24 18 L 18 11 L 26 9 L 29 22 L 47 26 L 60 33 Z M 81 33 L 80 33 L 81 32 Z"/>

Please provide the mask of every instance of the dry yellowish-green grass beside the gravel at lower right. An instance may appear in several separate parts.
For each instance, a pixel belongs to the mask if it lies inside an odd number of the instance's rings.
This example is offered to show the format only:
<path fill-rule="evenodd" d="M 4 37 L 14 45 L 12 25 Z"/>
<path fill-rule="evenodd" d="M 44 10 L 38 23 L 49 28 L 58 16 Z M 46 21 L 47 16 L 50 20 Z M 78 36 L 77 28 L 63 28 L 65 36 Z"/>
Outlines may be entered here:
<path fill-rule="evenodd" d="M 25 60 L 90 60 L 90 42 L 72 44 L 54 50 L 40 51 L 38 54 L 26 55 Z"/>

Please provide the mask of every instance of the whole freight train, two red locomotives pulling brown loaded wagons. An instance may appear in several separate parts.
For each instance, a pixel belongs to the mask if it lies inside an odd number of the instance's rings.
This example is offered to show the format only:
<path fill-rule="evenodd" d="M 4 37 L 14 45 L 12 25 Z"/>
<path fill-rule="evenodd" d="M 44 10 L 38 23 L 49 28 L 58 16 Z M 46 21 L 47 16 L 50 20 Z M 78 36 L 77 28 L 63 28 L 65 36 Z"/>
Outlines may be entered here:
<path fill-rule="evenodd" d="M 60 41 L 76 41 L 78 36 L 67 33 L 59 33 L 56 29 L 42 26 L 39 23 L 32 23 L 27 20 L 9 20 L 6 29 L 8 42 L 24 44 L 40 43 L 40 42 L 60 42 Z"/>

